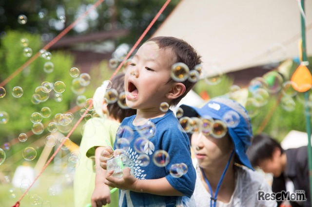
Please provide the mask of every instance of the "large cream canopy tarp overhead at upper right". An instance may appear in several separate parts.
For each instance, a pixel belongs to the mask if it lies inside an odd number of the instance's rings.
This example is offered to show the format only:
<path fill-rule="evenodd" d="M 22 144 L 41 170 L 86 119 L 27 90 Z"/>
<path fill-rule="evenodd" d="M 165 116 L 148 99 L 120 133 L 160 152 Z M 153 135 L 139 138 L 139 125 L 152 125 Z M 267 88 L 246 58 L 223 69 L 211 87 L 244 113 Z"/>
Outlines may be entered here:
<path fill-rule="evenodd" d="M 305 11 L 311 55 L 311 0 Z M 226 73 L 298 57 L 300 10 L 297 0 L 181 0 L 153 36 L 186 40 L 205 67 L 217 62 Z"/>

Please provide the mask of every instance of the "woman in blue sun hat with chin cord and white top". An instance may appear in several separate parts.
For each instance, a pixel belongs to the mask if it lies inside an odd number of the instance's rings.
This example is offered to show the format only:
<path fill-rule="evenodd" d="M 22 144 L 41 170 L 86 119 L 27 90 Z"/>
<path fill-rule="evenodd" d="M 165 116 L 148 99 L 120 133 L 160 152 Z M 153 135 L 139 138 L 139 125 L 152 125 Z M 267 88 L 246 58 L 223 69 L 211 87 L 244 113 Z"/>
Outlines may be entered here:
<path fill-rule="evenodd" d="M 180 123 L 192 136 L 196 157 L 196 206 L 276 207 L 274 199 L 263 196 L 272 193 L 271 187 L 254 172 L 246 155 L 253 139 L 246 109 L 221 97 L 201 108 L 180 107 L 184 111 Z"/>

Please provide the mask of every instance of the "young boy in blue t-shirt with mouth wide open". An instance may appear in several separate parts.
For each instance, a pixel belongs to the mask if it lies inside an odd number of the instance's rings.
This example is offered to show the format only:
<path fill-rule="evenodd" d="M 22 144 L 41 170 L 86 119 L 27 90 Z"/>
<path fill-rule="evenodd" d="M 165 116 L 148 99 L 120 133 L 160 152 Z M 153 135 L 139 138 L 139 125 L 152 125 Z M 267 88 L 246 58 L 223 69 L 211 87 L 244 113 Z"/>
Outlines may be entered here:
<path fill-rule="evenodd" d="M 192 204 L 190 198 L 195 188 L 196 174 L 192 166 L 188 136 L 180 130 L 180 123 L 170 109 L 160 109 L 160 104 L 164 102 L 171 106 L 176 105 L 195 85 L 189 80 L 175 82 L 171 78 L 171 68 L 175 63 L 184 63 L 193 70 L 201 60 L 194 48 L 185 41 L 160 36 L 144 43 L 127 68 L 126 103 L 130 108 L 137 109 L 137 115 L 126 118 L 120 126 L 130 127 L 134 133 L 127 150 L 130 159 L 135 163 L 134 175 L 129 168 L 125 168 L 123 177 L 117 178 L 112 176 L 113 172 L 107 172 L 105 181 L 111 187 L 122 189 L 119 195 L 120 207 L 175 207 L 182 202 L 184 205 Z M 143 154 L 149 157 L 150 164 L 142 166 L 138 159 L 140 153 L 134 144 L 141 137 L 138 128 L 145 126 L 142 123 L 146 122 L 155 125 L 155 134 L 148 136 L 143 148 Z M 154 129 L 152 127 L 148 132 L 153 132 Z M 129 134 L 131 133 L 124 133 L 120 137 L 124 138 Z M 117 140 L 115 148 L 116 143 Z M 160 156 L 166 158 L 162 167 L 152 161 L 158 150 L 163 150 L 170 156 L 166 156 L 166 153 Z M 107 157 L 112 153 L 106 150 L 100 156 L 104 169 Z M 188 171 L 176 178 L 170 174 L 170 167 L 178 163 L 186 164 Z"/>

